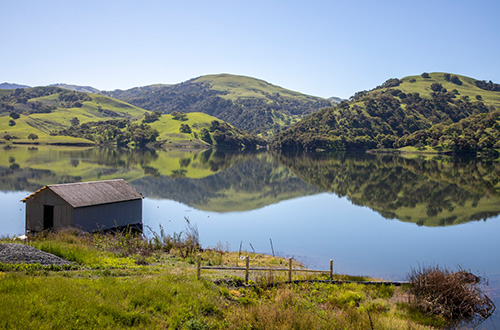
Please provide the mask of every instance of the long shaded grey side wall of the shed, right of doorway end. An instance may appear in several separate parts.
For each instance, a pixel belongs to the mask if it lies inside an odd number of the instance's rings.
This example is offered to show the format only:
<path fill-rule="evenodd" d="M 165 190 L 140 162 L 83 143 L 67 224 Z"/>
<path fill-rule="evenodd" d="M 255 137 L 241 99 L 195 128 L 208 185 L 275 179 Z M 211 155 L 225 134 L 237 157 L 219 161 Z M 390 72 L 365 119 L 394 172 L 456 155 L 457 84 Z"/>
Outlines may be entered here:
<path fill-rule="evenodd" d="M 142 200 L 79 207 L 74 226 L 85 231 L 106 230 L 142 223 Z"/>

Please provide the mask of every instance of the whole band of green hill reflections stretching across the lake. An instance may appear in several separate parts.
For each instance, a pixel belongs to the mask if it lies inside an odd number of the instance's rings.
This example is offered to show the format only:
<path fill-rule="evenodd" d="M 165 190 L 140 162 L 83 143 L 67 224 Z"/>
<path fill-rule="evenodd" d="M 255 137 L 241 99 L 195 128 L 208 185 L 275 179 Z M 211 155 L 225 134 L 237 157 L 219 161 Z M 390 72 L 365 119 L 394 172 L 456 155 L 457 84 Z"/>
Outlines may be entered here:
<path fill-rule="evenodd" d="M 216 212 L 249 211 L 329 192 L 419 226 L 500 214 L 500 164 L 484 159 L 46 146 L 1 151 L 2 191 L 115 178 L 146 197 Z"/>

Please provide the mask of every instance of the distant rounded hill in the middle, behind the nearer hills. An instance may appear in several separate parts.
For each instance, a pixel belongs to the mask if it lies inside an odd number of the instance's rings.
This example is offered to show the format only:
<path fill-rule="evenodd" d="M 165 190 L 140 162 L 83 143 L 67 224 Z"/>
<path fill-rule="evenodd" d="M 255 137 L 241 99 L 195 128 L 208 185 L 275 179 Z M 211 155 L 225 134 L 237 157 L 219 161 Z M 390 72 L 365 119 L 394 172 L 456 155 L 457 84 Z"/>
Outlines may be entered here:
<path fill-rule="evenodd" d="M 143 109 L 162 113 L 203 112 L 234 127 L 267 136 L 304 115 L 331 106 L 263 80 L 229 74 L 208 75 L 175 85 L 151 85 L 104 92 Z"/>

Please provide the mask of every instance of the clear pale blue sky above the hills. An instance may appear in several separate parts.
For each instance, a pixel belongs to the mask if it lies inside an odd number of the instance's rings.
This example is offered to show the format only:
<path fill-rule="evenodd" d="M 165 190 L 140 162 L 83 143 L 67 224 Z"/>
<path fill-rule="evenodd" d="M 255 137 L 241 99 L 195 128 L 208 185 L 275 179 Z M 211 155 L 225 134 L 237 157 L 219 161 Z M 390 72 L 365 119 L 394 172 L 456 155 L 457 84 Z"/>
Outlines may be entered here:
<path fill-rule="evenodd" d="M 0 82 L 127 89 L 213 73 L 347 98 L 388 78 L 500 82 L 500 1 L 3 1 Z"/>

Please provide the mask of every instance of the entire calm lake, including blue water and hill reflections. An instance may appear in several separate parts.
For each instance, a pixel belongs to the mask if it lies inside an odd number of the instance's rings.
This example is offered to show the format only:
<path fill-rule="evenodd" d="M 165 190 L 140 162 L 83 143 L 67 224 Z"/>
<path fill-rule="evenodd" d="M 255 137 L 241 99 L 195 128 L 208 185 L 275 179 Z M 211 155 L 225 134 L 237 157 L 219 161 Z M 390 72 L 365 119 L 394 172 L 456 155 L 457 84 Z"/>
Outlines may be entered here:
<path fill-rule="evenodd" d="M 24 233 L 20 200 L 47 184 L 123 178 L 141 192 L 146 234 L 274 252 L 311 268 L 404 280 L 420 265 L 490 280 L 500 306 L 500 163 L 372 154 L 0 149 L 0 236 Z M 500 326 L 493 317 L 483 326 Z"/>

